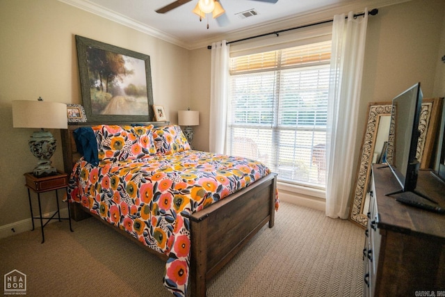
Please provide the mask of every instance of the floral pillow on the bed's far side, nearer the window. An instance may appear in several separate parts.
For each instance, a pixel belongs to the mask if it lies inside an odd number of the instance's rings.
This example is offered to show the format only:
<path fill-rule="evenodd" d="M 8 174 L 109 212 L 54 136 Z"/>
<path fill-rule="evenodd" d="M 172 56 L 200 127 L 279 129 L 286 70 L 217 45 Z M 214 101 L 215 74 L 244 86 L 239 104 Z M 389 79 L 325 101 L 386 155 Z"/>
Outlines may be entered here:
<path fill-rule="evenodd" d="M 190 150 L 186 136 L 178 125 L 156 127 L 152 129 L 156 152 L 161 154 L 173 154 Z"/>

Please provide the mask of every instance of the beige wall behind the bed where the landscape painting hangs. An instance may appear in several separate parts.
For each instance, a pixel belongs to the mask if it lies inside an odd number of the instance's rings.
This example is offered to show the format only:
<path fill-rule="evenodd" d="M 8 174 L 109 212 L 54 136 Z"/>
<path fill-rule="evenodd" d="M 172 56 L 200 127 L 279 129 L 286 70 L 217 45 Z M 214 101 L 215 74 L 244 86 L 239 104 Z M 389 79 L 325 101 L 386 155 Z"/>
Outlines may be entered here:
<path fill-rule="evenodd" d="M 11 101 L 41 96 L 81 103 L 74 35 L 149 55 L 154 103 L 165 106 L 171 122 L 177 122 L 178 109 L 189 105 L 188 50 L 59 1 L 0 0 L 0 227 L 30 218 L 23 174 L 37 163 L 28 148 L 34 130 L 13 128 Z M 60 143 L 60 132 L 52 133 Z M 63 169 L 60 146 L 52 159 Z M 42 195 L 43 212 L 55 209 L 53 196 Z"/>

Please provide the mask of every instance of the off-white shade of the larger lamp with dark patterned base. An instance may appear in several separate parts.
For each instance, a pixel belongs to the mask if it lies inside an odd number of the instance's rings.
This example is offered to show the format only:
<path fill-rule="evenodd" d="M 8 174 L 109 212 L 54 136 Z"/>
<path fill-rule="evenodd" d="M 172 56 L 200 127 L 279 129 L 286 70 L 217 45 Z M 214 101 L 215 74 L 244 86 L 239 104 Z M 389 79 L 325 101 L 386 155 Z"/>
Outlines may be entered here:
<path fill-rule="evenodd" d="M 13 101 L 14 128 L 67 129 L 67 104 L 48 101 Z"/>

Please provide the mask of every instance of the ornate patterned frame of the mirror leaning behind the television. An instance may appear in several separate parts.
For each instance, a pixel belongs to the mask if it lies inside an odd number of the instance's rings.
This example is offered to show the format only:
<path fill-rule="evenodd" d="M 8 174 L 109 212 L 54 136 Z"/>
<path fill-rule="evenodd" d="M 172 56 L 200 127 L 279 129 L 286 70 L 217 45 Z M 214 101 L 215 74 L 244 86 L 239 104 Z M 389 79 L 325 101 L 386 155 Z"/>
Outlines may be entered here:
<path fill-rule="evenodd" d="M 421 115 L 419 118 L 419 141 L 416 156 L 420 161 L 420 169 L 431 168 L 432 154 L 437 138 L 439 125 L 439 109 L 443 98 L 422 100 Z M 371 179 L 371 165 L 375 147 L 375 138 L 378 132 L 380 117 L 391 115 L 391 102 L 371 102 L 368 105 L 368 121 L 363 135 L 360 159 L 357 164 L 357 178 L 355 179 L 353 198 L 351 200 L 349 219 L 357 225 L 366 228 L 368 217 L 363 214 L 367 185 Z"/>

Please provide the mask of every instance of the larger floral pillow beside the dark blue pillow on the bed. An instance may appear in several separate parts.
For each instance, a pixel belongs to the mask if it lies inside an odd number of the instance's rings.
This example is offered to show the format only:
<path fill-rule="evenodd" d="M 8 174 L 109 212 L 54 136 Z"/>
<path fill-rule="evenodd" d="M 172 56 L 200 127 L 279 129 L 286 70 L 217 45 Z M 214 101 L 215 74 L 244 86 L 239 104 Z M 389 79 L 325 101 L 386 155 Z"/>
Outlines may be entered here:
<path fill-rule="evenodd" d="M 92 127 L 95 132 L 99 161 L 124 161 L 142 159 L 156 153 L 153 125 L 117 126 L 99 125 Z"/>

